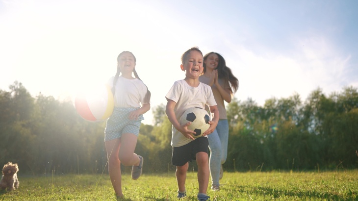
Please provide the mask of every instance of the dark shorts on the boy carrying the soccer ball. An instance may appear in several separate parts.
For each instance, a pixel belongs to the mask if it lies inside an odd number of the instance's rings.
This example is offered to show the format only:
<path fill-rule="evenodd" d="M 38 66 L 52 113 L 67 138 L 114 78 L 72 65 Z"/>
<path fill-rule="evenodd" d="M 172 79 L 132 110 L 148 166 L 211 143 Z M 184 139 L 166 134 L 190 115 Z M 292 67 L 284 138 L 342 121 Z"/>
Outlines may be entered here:
<path fill-rule="evenodd" d="M 199 137 L 181 147 L 173 147 L 172 164 L 175 166 L 183 166 L 187 162 L 196 160 L 198 152 L 207 153 L 209 141 L 207 137 Z"/>

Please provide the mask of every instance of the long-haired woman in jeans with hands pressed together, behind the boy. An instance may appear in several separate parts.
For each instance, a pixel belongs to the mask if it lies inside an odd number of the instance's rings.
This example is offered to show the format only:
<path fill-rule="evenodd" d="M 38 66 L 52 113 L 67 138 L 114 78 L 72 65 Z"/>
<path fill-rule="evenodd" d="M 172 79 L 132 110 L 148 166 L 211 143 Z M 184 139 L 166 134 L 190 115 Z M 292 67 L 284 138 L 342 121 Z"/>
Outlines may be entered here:
<path fill-rule="evenodd" d="M 228 155 L 229 124 L 224 100 L 231 101 L 231 96 L 239 87 L 238 79 L 232 75 L 226 66 L 223 56 L 216 52 L 209 52 L 204 56 L 204 72 L 199 80 L 211 86 L 219 109 L 219 122 L 209 139 L 209 167 L 211 175 L 211 189 L 220 190 L 219 179 L 223 177 L 223 166 Z"/>

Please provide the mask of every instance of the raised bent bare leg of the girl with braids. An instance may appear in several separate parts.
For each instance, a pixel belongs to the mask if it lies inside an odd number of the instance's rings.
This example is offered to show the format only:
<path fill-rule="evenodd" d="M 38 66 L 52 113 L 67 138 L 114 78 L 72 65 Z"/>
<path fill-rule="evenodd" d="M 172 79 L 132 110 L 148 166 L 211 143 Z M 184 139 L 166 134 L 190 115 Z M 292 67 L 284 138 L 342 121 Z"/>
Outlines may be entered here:
<path fill-rule="evenodd" d="M 122 145 L 119 150 L 119 159 L 125 166 L 138 166 L 140 163 L 140 158 L 134 153 L 135 146 L 137 145 L 137 139 L 138 137 L 132 133 L 122 134 Z"/>

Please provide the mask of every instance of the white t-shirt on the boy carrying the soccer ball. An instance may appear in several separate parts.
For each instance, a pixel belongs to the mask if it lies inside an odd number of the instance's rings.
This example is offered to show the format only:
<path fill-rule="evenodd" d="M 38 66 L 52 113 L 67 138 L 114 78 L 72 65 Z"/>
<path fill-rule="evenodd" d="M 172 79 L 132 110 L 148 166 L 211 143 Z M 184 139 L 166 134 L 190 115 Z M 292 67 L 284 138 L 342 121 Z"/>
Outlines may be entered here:
<path fill-rule="evenodd" d="M 189 86 L 183 79 L 174 83 L 165 98 L 173 100 L 177 103 L 174 107 L 174 113 L 178 121 L 184 111 L 190 107 L 201 107 L 204 109 L 206 104 L 208 106 L 216 105 L 210 86 L 200 82 L 198 87 L 192 87 Z M 191 141 L 191 139 L 186 138 L 183 134 L 181 134 L 181 132 L 172 126 L 171 145 L 173 147 L 180 147 Z"/>

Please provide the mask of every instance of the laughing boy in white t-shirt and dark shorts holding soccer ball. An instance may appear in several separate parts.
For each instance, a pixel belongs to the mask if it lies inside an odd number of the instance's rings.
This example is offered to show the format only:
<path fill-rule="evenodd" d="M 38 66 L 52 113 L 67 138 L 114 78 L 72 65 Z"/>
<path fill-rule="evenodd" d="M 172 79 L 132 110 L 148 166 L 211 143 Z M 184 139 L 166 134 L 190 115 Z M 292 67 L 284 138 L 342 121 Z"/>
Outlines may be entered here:
<path fill-rule="evenodd" d="M 185 71 L 185 78 L 176 81 L 165 96 L 168 101 L 165 113 L 173 125 L 172 164 L 177 166 L 178 198 L 186 196 L 186 172 L 189 162 L 196 160 L 199 183 L 198 200 L 207 201 L 210 198 L 206 195 L 210 173 L 207 153 L 209 143 L 206 135 L 215 130 L 219 121 L 219 111 L 210 86 L 199 82 L 199 76 L 204 70 L 202 51 L 196 47 L 185 51 L 181 56 L 181 63 L 180 69 Z M 195 132 L 187 129 L 190 122 L 180 125 L 178 120 L 186 109 L 190 107 L 205 108 L 205 104 L 209 106 L 213 118 L 209 121 L 210 127 L 203 133 L 203 136 L 194 140 L 191 134 L 195 134 Z"/>

